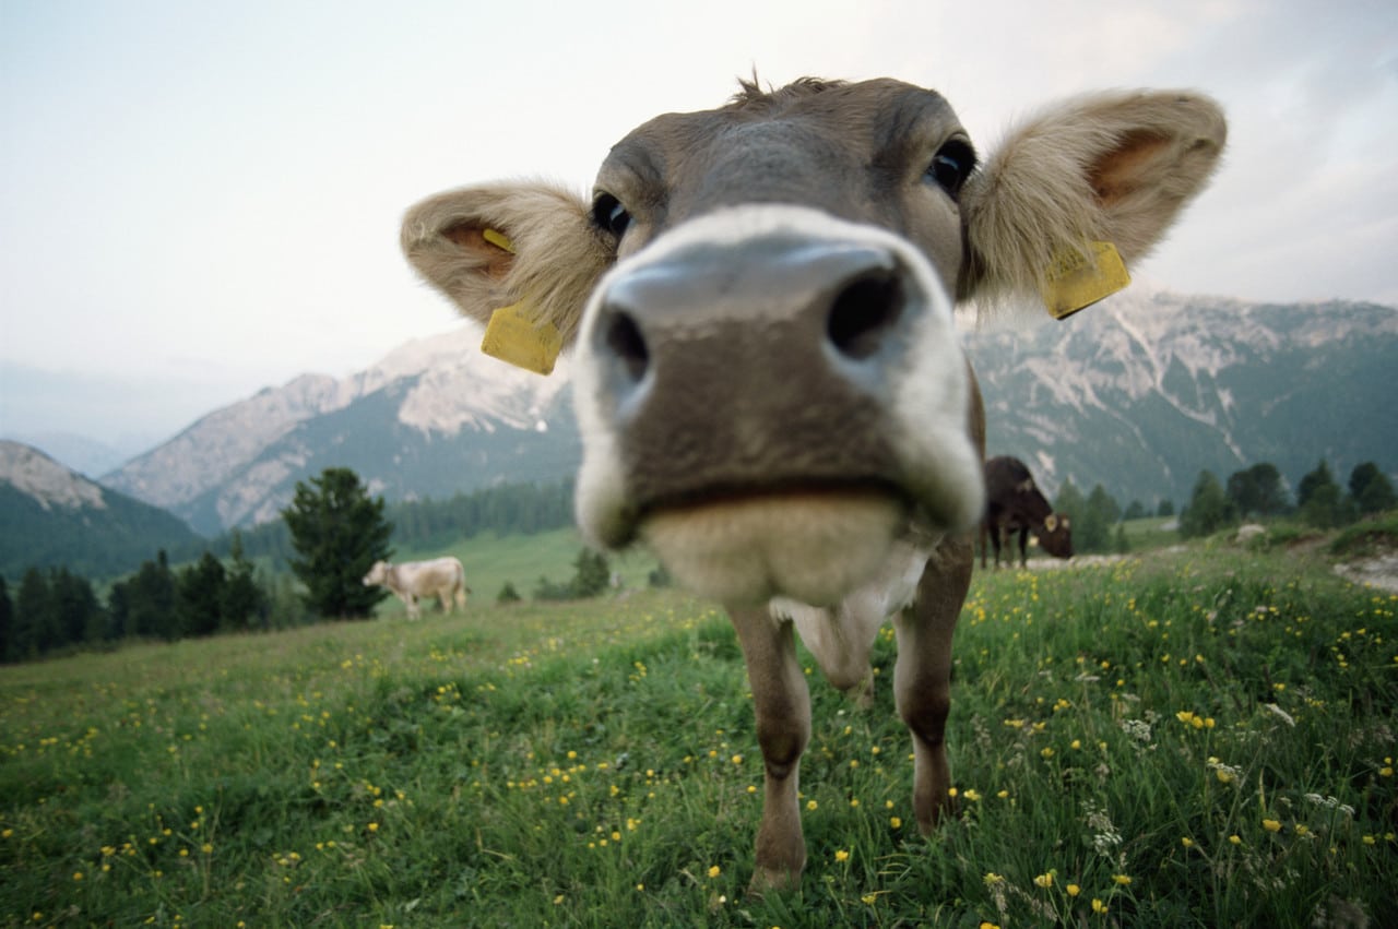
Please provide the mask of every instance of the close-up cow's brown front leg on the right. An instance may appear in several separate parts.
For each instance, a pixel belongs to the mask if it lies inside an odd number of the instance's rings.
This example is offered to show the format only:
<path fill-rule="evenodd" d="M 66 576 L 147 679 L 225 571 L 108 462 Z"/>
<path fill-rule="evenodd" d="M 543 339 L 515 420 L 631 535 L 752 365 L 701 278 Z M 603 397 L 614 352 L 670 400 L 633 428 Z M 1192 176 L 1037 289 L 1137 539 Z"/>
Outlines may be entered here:
<path fill-rule="evenodd" d="M 951 807 L 946 712 L 951 710 L 952 630 L 970 588 L 974 553 L 969 541 L 938 548 L 917 585 L 917 602 L 895 619 L 898 711 L 913 736 L 913 812 L 927 833 Z"/>

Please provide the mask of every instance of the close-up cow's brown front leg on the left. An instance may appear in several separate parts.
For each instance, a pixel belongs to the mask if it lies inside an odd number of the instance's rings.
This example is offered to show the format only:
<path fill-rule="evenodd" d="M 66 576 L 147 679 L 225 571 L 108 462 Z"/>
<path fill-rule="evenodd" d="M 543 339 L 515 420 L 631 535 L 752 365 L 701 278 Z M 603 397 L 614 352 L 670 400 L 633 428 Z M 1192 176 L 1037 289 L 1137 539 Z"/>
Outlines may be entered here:
<path fill-rule="evenodd" d="M 763 800 L 752 893 L 800 883 L 805 838 L 797 803 L 801 753 L 811 740 L 811 694 L 795 657 L 791 623 L 765 606 L 730 609 L 738 631 L 762 749 Z"/>

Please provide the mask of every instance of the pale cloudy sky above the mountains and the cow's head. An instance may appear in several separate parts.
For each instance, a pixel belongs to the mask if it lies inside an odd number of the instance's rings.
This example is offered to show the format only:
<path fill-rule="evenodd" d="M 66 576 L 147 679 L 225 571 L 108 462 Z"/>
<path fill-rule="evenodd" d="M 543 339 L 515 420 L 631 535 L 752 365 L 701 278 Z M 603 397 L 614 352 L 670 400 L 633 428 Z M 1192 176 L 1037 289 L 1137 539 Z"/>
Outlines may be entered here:
<path fill-rule="evenodd" d="M 0 0 L 0 437 L 140 451 L 461 323 L 403 211 L 612 142 L 756 68 L 941 91 L 977 147 L 1055 98 L 1197 88 L 1226 162 L 1132 274 L 1398 306 L 1392 0 Z"/>

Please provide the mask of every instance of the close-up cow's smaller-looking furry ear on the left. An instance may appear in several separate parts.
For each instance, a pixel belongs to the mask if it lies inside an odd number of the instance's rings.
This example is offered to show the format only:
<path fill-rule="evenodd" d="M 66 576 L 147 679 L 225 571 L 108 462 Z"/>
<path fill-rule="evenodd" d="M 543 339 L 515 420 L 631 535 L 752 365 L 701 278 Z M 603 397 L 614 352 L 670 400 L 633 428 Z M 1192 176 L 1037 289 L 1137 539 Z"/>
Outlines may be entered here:
<path fill-rule="evenodd" d="M 464 316 L 503 307 L 552 323 L 570 344 L 615 243 L 582 197 L 545 183 L 489 184 L 429 197 L 403 219 L 403 253 Z"/>

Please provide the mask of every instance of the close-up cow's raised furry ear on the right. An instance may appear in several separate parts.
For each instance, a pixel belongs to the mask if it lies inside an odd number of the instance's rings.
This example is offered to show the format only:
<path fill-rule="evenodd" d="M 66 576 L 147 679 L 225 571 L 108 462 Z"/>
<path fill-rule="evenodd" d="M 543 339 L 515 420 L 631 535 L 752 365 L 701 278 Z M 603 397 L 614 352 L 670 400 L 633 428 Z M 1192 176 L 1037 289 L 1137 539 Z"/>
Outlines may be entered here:
<path fill-rule="evenodd" d="M 1083 96 L 1028 120 L 966 183 L 959 295 L 1039 299 L 1050 270 L 1090 260 L 1095 242 L 1130 267 L 1204 189 L 1226 134 L 1218 103 L 1180 91 Z"/>

